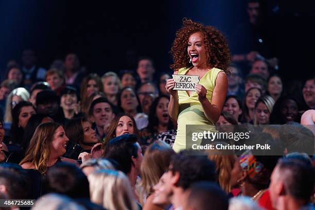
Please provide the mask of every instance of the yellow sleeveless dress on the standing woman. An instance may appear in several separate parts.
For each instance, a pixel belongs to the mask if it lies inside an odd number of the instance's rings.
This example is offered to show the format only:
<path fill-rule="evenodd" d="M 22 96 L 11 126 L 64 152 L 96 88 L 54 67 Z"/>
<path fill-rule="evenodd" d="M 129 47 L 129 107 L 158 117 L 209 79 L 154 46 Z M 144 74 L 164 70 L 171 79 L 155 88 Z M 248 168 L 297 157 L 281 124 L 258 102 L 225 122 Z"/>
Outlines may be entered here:
<path fill-rule="evenodd" d="M 190 68 L 180 68 L 178 74 L 185 75 Z M 199 78 L 199 84 L 203 85 L 204 88 L 207 90 L 206 97 L 209 102 L 211 102 L 216 78 L 219 72 L 223 72 L 223 70 L 212 68 L 201 79 Z M 201 103 L 198 100 L 197 92 L 194 92 L 189 96 L 186 91 L 178 91 L 178 102 L 178 127 L 177 135 L 173 145 L 173 149 L 176 152 L 186 149 L 186 125 L 209 125 L 211 126 L 210 129 L 215 131 L 215 122 L 208 120 L 208 118 L 205 116 Z M 199 132 L 202 132 L 202 130 L 200 130 Z"/>

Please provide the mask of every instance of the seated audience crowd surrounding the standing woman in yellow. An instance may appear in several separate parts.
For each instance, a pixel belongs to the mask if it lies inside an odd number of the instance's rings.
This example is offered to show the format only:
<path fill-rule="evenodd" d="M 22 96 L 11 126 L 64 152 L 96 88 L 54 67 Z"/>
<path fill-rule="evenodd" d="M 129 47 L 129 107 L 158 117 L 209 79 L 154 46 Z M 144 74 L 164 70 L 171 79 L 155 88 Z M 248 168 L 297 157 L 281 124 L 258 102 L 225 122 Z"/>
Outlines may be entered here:
<path fill-rule="evenodd" d="M 283 153 L 190 155 L 172 149 L 171 75 L 155 78 L 151 58 L 100 77 L 75 54 L 48 71 L 24 54 L 0 85 L 2 199 L 36 199 L 33 209 L 314 209 L 314 156 L 277 126 L 314 125 L 315 77 L 292 93 L 264 60 L 244 78 L 231 64 L 217 125 L 275 125 L 260 138 Z"/>

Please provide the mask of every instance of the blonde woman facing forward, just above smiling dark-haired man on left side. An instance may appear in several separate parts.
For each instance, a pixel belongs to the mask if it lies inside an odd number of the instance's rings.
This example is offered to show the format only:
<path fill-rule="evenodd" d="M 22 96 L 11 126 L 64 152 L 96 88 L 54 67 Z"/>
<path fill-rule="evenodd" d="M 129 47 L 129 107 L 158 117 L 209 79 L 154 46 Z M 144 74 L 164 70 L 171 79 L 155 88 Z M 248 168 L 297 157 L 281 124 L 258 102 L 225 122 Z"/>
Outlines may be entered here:
<path fill-rule="evenodd" d="M 119 77 L 114 72 L 107 72 L 102 76 L 102 83 L 106 98 L 117 106 L 117 94 L 121 89 Z"/>

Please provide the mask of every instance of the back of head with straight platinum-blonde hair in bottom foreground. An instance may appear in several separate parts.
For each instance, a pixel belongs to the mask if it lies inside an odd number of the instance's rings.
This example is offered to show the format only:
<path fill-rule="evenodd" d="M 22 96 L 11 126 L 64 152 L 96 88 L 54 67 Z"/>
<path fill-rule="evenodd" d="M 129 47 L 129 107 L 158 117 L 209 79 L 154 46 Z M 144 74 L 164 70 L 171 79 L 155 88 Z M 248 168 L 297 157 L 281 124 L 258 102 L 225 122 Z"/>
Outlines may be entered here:
<path fill-rule="evenodd" d="M 102 169 L 91 173 L 88 179 L 93 203 L 109 210 L 138 209 L 130 182 L 123 172 Z"/>

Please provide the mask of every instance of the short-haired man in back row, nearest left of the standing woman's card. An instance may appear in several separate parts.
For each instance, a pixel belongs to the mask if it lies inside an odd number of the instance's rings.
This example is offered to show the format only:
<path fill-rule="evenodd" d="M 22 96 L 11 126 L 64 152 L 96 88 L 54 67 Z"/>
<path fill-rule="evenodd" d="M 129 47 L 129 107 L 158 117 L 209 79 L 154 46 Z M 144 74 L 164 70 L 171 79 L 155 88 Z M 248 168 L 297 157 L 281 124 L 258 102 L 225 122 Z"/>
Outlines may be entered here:
<path fill-rule="evenodd" d="M 138 60 L 137 74 L 140 82 L 152 82 L 155 68 L 153 60 L 149 57 L 142 57 Z"/>

